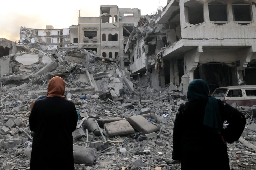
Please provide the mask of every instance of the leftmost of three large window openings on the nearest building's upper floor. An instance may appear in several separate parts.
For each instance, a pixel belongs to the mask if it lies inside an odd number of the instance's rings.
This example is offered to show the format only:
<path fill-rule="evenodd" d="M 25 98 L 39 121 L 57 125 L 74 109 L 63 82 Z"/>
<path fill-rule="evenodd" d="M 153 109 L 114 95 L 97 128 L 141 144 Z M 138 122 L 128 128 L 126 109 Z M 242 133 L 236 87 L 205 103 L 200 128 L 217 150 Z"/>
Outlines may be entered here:
<path fill-rule="evenodd" d="M 185 4 L 185 19 L 187 23 L 197 25 L 204 22 L 203 3 L 195 0 Z"/>

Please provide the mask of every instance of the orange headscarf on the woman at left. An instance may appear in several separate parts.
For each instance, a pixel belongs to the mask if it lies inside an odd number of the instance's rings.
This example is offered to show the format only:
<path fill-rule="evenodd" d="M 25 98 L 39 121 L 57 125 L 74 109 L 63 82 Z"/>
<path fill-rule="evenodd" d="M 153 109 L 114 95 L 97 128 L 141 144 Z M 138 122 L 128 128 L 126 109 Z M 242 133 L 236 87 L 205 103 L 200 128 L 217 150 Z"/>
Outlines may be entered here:
<path fill-rule="evenodd" d="M 58 96 L 58 97 L 65 98 L 64 92 L 65 92 L 65 81 L 59 76 L 53 77 L 49 81 L 47 97 Z"/>

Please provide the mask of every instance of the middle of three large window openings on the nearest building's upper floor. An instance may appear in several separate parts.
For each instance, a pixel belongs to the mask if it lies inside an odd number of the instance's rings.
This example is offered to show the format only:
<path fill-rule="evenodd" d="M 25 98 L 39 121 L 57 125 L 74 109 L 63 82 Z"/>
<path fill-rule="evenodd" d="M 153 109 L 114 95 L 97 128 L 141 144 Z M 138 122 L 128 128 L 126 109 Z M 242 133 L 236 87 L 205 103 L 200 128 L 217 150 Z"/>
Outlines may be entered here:
<path fill-rule="evenodd" d="M 210 22 L 217 25 L 223 25 L 228 22 L 227 4 L 218 1 L 212 1 L 208 4 Z"/>

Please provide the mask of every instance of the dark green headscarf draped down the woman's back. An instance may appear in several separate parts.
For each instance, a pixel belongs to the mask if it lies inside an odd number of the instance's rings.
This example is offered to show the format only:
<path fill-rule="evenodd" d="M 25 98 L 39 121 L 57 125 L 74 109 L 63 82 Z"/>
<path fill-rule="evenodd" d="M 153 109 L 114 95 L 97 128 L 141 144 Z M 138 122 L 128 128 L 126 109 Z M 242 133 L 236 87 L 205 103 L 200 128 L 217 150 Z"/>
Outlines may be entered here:
<path fill-rule="evenodd" d="M 215 129 L 219 133 L 222 130 L 221 116 L 219 114 L 219 105 L 215 97 L 209 96 L 209 87 L 206 81 L 195 79 L 189 83 L 187 98 L 189 101 L 208 97 L 205 107 L 203 124 Z"/>

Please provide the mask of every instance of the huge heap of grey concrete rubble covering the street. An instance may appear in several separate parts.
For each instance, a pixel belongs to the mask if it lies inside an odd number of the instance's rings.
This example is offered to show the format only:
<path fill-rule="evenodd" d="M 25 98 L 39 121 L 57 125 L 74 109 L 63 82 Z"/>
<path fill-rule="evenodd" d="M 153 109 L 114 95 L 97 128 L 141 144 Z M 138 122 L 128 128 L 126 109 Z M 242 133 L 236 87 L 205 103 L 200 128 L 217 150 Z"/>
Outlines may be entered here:
<path fill-rule="evenodd" d="M 46 52 L 32 48 L 4 58 L 10 59 L 12 71 L 0 77 L 1 169 L 29 169 L 30 104 L 45 97 L 48 81 L 56 75 L 65 80 L 66 99 L 75 103 L 79 115 L 72 133 L 76 169 L 181 168 L 171 159 L 172 133 L 186 95 L 170 87 L 160 91 L 140 87 L 114 59 L 84 49 Z M 234 107 L 247 112 L 256 109 Z M 256 125 L 253 114 L 247 116 L 243 138 L 228 144 L 234 169 L 256 168 Z"/>

